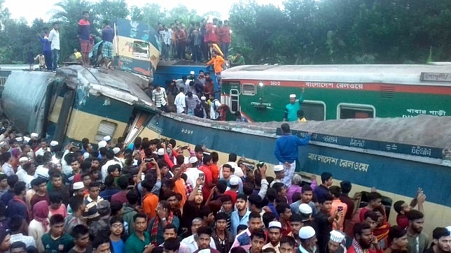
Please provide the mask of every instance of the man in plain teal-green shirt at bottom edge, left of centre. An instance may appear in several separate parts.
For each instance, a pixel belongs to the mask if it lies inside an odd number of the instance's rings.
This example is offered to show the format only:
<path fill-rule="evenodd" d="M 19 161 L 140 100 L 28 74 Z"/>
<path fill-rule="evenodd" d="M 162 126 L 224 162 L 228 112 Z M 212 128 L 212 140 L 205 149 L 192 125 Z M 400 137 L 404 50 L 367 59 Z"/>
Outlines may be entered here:
<path fill-rule="evenodd" d="M 133 216 L 134 233 L 125 242 L 127 253 L 151 253 L 155 245 L 151 245 L 151 236 L 146 232 L 147 215 L 137 213 Z"/>

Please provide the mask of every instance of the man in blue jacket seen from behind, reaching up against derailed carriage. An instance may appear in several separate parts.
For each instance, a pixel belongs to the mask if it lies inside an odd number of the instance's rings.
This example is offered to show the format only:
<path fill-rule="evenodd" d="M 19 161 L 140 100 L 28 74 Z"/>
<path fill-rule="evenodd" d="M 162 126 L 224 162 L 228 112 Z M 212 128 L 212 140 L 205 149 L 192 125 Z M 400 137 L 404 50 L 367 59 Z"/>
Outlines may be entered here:
<path fill-rule="evenodd" d="M 279 160 L 279 164 L 285 167 L 285 177 L 282 182 L 286 187 L 290 187 L 299 154 L 298 146 L 308 145 L 310 138 L 312 138 L 312 132 L 308 132 L 305 138 L 299 138 L 291 134 L 288 123 L 282 124 L 280 128 L 282 129 L 282 136 L 279 136 L 276 140 L 274 154 Z"/>

